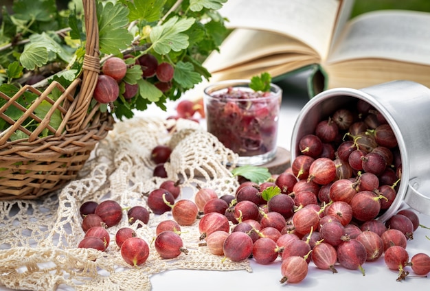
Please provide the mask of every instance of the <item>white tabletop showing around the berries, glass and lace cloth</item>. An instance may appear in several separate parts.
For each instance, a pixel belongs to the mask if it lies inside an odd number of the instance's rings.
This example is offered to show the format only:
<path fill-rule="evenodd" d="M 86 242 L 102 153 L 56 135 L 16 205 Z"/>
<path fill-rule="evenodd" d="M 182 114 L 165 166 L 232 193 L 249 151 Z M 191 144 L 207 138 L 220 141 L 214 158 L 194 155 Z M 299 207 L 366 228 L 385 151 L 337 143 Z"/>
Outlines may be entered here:
<path fill-rule="evenodd" d="M 306 80 L 296 76 L 282 82 L 288 93 L 282 102 L 280 115 L 280 131 L 278 132 L 278 145 L 290 150 L 291 132 L 295 119 L 302 106 L 308 101 L 306 93 Z M 169 103 L 169 110 L 164 113 L 155 106 L 151 106 L 144 114 L 169 115 L 174 113 L 175 102 Z M 430 216 L 420 214 L 420 223 L 430 226 Z M 414 240 L 409 240 L 407 251 L 409 257 L 416 253 L 430 254 L 430 230 L 418 228 L 414 233 Z M 408 277 L 405 281 L 396 281 L 398 272 L 389 270 L 381 257 L 376 262 L 366 262 L 363 265 L 365 276 L 359 270 L 347 270 L 336 266 L 338 273 L 332 274 L 329 270 L 319 270 L 311 262 L 308 276 L 304 281 L 296 284 L 280 283 L 280 259 L 270 265 L 259 265 L 251 259 L 253 272 L 246 270 L 235 271 L 207 271 L 207 270 L 169 270 L 150 277 L 152 290 L 188 290 L 188 291 L 219 291 L 219 290 L 430 290 L 430 278 Z M 413 274 L 411 274 L 413 275 Z M 0 290 L 10 290 L 0 286 Z M 58 290 L 71 290 L 60 286 Z M 139 288 L 136 288 L 139 290 Z"/>

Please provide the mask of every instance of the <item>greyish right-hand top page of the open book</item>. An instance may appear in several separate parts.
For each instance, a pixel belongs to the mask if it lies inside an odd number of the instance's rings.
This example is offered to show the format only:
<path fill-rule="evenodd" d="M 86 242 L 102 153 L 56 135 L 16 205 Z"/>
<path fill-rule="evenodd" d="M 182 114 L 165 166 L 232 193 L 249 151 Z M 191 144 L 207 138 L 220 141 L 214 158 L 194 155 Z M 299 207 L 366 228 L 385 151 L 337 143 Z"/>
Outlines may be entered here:
<path fill-rule="evenodd" d="M 380 10 L 357 16 L 346 25 L 328 64 L 359 58 L 430 65 L 430 13 Z"/>

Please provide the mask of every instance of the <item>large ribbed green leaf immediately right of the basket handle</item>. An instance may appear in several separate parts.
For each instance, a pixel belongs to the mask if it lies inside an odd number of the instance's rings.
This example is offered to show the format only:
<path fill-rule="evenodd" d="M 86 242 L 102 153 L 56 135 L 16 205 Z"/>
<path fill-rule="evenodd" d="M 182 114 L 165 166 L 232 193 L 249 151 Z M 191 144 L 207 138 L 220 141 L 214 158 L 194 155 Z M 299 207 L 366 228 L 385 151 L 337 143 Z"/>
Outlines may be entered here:
<path fill-rule="evenodd" d="M 133 41 L 133 35 L 128 32 L 128 10 L 116 3 L 107 2 L 98 5 L 99 46 L 104 54 L 120 54 Z"/>

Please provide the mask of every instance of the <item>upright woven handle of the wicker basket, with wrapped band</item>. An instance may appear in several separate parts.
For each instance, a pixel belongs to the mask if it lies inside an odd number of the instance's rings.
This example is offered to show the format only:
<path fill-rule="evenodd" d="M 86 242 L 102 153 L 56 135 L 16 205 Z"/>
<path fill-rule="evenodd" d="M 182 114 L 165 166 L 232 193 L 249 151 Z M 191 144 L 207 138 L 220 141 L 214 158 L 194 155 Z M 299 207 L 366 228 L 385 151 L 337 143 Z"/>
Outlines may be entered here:
<path fill-rule="evenodd" d="M 85 45 L 84 64 L 82 66 L 82 84 L 78 93 L 75 108 L 72 111 L 68 122 L 68 130 L 74 131 L 76 128 L 83 129 L 87 124 L 84 122 L 87 117 L 87 110 L 93 98 L 95 85 L 100 73 L 100 51 L 96 0 L 82 0 L 84 5 L 85 30 L 87 43 Z"/>

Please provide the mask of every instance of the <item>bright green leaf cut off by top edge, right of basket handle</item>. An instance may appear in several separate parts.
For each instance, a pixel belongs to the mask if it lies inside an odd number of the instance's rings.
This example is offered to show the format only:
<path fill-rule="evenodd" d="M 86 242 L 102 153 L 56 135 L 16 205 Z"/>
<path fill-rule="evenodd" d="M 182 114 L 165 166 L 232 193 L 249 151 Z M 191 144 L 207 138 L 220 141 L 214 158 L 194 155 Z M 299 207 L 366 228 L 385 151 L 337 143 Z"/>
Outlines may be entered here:
<path fill-rule="evenodd" d="M 144 19 L 147 22 L 158 21 L 161 19 L 161 11 L 163 11 L 163 6 L 166 0 L 135 0 L 135 1 L 124 1 L 128 5 L 130 14 L 128 14 L 128 19 L 130 21 L 135 21 L 139 19 Z"/>

